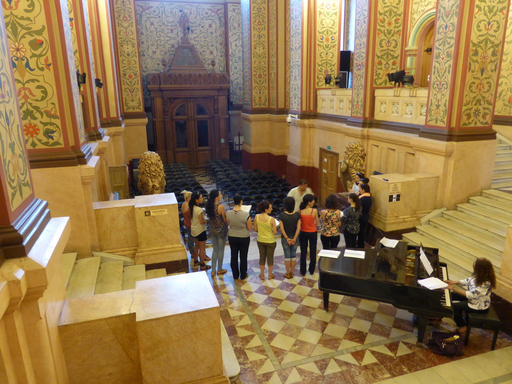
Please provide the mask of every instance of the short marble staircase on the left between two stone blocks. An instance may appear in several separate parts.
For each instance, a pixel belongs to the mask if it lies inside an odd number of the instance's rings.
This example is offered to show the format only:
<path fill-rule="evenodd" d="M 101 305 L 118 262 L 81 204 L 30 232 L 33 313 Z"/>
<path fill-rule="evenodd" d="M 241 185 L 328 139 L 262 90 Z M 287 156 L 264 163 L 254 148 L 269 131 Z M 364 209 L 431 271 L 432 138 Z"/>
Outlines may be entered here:
<path fill-rule="evenodd" d="M 135 283 L 167 276 L 165 269 L 145 270 L 132 258 L 92 252 L 91 258 L 77 259 L 76 253 L 62 255 L 62 274 L 68 299 L 99 293 L 134 289 Z"/>

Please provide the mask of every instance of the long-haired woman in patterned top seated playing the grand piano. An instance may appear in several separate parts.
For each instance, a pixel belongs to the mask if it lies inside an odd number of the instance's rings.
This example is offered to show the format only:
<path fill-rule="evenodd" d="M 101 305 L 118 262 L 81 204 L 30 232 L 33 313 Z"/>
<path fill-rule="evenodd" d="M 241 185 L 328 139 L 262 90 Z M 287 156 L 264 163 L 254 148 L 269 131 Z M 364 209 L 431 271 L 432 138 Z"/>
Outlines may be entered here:
<path fill-rule="evenodd" d="M 473 276 L 461 281 L 446 280 L 448 289 L 452 290 L 454 321 L 457 332 L 466 331 L 466 322 L 462 312 L 486 312 L 490 305 L 490 292 L 496 288 L 496 276 L 493 265 L 485 258 L 473 263 Z M 466 287 L 467 290 L 456 287 L 455 284 Z"/>

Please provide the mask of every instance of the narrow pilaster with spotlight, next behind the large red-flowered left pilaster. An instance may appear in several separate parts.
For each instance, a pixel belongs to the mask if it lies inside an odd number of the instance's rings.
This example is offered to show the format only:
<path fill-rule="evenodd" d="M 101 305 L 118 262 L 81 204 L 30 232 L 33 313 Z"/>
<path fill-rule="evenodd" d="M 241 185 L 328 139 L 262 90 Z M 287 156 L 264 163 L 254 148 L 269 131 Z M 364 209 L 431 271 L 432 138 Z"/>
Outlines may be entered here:
<path fill-rule="evenodd" d="M 86 83 L 81 84 L 83 96 L 84 125 L 89 141 L 101 141 L 105 135 L 99 122 L 98 99 L 93 66 L 91 31 L 86 2 L 70 0 L 68 2 L 69 18 L 72 20 L 71 35 L 75 66 L 79 73 L 86 74 Z"/>

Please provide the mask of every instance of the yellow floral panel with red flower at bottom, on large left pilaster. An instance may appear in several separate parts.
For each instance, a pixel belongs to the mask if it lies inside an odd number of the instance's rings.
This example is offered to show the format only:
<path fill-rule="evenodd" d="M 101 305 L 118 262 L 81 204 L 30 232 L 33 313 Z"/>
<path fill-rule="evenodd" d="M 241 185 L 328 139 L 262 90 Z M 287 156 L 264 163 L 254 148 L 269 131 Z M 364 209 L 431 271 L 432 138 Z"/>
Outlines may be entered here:
<path fill-rule="evenodd" d="M 27 147 L 62 147 L 61 112 L 42 0 L 6 0 L 2 7 Z"/>

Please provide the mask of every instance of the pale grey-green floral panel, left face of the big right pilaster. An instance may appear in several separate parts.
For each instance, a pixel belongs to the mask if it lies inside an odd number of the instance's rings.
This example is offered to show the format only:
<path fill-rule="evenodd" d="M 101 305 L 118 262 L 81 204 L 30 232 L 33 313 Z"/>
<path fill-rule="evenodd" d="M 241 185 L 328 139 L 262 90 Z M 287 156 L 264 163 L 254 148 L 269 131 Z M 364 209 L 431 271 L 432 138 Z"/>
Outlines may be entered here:
<path fill-rule="evenodd" d="M 458 15 L 458 2 L 439 0 L 426 124 L 445 126 L 447 123 Z"/>

